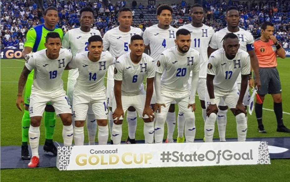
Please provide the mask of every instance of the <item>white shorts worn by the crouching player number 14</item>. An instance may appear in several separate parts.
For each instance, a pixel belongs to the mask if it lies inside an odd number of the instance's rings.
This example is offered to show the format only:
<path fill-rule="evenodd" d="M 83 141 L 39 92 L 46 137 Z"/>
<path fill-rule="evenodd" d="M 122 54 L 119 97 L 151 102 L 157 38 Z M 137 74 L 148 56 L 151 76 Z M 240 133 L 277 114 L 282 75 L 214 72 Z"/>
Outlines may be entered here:
<path fill-rule="evenodd" d="M 108 118 L 108 108 L 106 92 L 85 93 L 81 90 L 74 91 L 73 109 L 76 121 L 84 121 L 91 106 L 92 112 L 97 120 L 106 120 Z"/>

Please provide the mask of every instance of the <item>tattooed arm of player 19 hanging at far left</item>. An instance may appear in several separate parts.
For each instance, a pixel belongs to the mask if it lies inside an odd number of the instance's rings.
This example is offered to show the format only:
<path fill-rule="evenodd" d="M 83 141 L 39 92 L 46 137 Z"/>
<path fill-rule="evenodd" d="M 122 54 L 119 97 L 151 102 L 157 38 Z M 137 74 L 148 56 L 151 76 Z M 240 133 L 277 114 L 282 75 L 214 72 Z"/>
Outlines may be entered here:
<path fill-rule="evenodd" d="M 22 93 L 23 93 L 23 89 L 25 87 L 27 77 L 28 77 L 30 72 L 31 71 L 29 71 L 27 69 L 27 67 L 24 65 L 23 70 L 22 70 L 21 75 L 20 75 L 19 80 L 18 80 L 18 94 L 17 94 L 17 100 L 16 100 L 16 107 L 21 111 L 22 111 L 21 104 L 23 104 L 23 106 L 24 106 L 24 100 L 22 97 Z"/>

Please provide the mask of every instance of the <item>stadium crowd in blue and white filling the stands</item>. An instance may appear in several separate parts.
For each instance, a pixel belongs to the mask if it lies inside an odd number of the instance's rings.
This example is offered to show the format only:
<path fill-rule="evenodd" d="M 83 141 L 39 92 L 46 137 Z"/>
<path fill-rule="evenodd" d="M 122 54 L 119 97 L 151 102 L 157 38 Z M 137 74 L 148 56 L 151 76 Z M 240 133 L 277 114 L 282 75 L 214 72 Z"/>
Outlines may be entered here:
<path fill-rule="evenodd" d="M 28 3 L 29 2 L 29 3 Z M 261 35 L 260 25 L 264 21 L 270 21 L 275 26 L 275 36 L 279 40 L 283 48 L 289 48 L 290 43 L 290 3 L 289 1 L 275 0 L 275 1 L 225 1 L 225 0 L 203 0 L 203 7 L 205 8 L 206 18 L 204 23 L 212 26 L 215 31 L 218 31 L 226 26 L 225 9 L 229 6 L 237 6 L 240 9 L 241 19 L 240 27 L 251 32 L 254 38 Z M 58 27 L 63 29 L 64 34 L 72 28 L 80 26 L 79 15 L 80 9 L 86 5 L 93 7 L 96 11 L 94 29 L 98 29 L 103 36 L 107 30 L 117 26 L 116 14 L 122 7 L 132 7 L 133 13 L 137 9 L 147 9 L 147 13 L 155 15 L 155 5 L 148 5 L 145 7 L 141 3 L 137 6 L 137 2 L 133 1 L 131 4 L 126 4 L 126 1 L 117 1 L 116 4 L 108 5 L 102 0 L 95 2 L 86 0 L 73 1 L 53 1 L 44 0 L 43 7 L 38 7 L 34 1 L 28 0 L 4 0 L 0 2 L 1 5 L 1 48 L 16 47 L 23 49 L 25 42 L 25 35 L 31 27 L 42 24 L 43 9 L 49 6 L 55 6 L 59 10 L 60 21 Z M 180 4 L 171 4 L 175 14 L 173 16 L 172 25 L 176 28 L 191 21 L 188 15 L 191 4 L 181 1 Z M 187 17 L 187 18 L 182 18 Z M 144 14 L 140 13 L 139 17 L 143 19 Z M 151 20 L 134 23 L 134 27 L 139 27 L 145 30 L 153 24 Z"/>

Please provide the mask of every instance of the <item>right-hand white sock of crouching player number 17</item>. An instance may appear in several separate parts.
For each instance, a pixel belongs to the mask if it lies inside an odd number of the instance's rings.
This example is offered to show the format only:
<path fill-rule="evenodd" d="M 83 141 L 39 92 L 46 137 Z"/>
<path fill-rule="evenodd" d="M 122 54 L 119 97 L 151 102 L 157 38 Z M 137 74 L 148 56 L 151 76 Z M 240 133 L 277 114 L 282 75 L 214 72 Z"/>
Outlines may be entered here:
<path fill-rule="evenodd" d="M 238 141 L 246 141 L 247 136 L 247 119 L 244 113 L 236 115 Z"/>

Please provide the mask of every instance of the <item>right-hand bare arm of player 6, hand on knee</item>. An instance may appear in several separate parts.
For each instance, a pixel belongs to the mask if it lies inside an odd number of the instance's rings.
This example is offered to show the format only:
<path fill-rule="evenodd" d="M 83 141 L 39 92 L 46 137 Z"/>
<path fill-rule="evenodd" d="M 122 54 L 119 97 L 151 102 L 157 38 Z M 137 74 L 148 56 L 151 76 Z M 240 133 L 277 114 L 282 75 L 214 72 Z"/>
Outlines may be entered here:
<path fill-rule="evenodd" d="M 149 119 L 153 121 L 154 118 L 154 111 L 150 107 L 150 101 L 153 94 L 153 84 L 154 84 L 154 77 L 153 78 L 147 78 L 146 83 L 146 100 L 145 100 L 145 106 L 143 110 L 143 117 L 145 115 L 149 116 Z"/>

